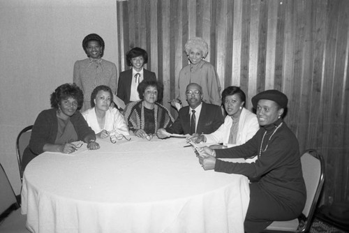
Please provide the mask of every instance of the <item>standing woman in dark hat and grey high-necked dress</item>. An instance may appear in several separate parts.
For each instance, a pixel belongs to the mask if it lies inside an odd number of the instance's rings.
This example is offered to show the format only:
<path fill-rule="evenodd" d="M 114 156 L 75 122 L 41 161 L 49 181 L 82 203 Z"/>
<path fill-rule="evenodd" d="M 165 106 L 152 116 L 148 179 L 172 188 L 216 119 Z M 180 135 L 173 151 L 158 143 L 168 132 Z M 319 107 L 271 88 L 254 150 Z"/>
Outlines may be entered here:
<path fill-rule="evenodd" d="M 84 104 L 81 112 L 91 108 L 90 97 L 92 91 L 105 85 L 112 89 L 113 95 L 117 91 L 117 66 L 102 59 L 105 49 L 103 38 L 95 33 L 87 35 L 82 40 L 82 48 L 87 59 L 76 61 L 74 64 L 73 82 L 84 92 Z"/>

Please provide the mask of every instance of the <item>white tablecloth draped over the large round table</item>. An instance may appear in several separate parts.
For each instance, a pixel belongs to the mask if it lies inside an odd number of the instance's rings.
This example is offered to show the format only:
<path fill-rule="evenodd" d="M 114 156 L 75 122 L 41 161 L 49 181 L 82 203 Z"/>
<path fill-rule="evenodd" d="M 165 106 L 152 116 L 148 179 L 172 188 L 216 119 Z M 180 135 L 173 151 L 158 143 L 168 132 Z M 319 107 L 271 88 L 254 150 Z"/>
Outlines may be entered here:
<path fill-rule="evenodd" d="M 185 139 L 98 140 L 27 165 L 22 213 L 33 232 L 244 232 L 248 179 L 204 171 Z"/>

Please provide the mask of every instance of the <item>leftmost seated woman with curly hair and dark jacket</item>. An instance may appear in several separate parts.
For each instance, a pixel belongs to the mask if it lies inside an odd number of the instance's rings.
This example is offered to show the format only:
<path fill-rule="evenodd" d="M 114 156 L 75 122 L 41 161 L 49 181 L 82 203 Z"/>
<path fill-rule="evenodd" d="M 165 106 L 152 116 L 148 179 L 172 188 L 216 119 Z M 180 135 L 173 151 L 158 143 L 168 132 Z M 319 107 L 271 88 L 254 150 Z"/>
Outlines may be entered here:
<path fill-rule="evenodd" d="M 63 84 L 50 100 L 52 108 L 40 112 L 34 123 L 29 146 L 23 153 L 23 170 L 45 151 L 73 153 L 77 147 L 71 142 L 80 140 L 87 143 L 88 149 L 99 149 L 94 130 L 78 111 L 84 102 L 82 90 L 76 84 Z"/>

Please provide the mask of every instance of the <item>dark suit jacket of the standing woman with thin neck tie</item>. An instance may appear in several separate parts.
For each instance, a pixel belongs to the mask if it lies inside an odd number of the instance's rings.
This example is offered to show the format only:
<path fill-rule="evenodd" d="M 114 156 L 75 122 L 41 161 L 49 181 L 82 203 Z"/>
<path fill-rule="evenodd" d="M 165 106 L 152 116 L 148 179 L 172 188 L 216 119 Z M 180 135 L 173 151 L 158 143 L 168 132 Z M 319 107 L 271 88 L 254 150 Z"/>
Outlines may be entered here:
<path fill-rule="evenodd" d="M 156 81 L 154 72 L 143 68 L 143 80 Z M 132 69 L 120 73 L 117 84 L 117 97 L 124 101 L 125 105 L 130 103 L 131 96 Z"/>

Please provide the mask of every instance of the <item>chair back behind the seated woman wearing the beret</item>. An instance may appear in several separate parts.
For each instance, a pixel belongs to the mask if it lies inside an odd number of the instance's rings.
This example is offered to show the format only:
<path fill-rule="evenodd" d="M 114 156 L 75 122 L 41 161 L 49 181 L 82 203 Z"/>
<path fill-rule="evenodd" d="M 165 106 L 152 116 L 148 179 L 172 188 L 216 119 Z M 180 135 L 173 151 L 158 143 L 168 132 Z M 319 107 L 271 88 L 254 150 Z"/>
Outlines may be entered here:
<path fill-rule="evenodd" d="M 302 172 L 306 186 L 306 204 L 302 213 L 306 223 L 302 232 L 308 232 L 325 181 L 325 164 L 315 150 L 307 150 L 301 157 Z"/>

